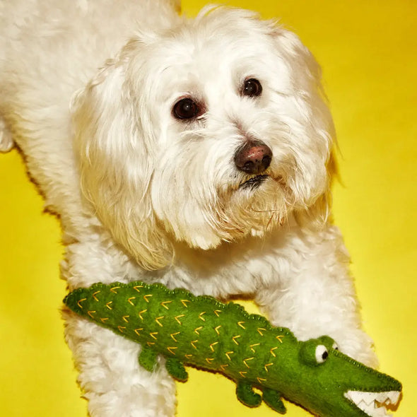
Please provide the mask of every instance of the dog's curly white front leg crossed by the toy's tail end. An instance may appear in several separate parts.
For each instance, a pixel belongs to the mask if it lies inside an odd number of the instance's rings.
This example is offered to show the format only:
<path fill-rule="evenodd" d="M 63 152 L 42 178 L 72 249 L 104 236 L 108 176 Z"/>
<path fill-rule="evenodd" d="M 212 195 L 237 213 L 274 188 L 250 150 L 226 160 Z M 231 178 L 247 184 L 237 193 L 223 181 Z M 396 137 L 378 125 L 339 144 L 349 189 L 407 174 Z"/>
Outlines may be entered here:
<path fill-rule="evenodd" d="M 97 281 L 143 278 L 107 233 L 97 233 L 101 229 L 93 219 L 84 222 L 84 235 L 78 233 L 78 240 L 66 247 L 65 261 L 61 263 L 61 274 L 70 289 L 88 287 Z M 64 240 L 69 238 L 64 235 Z M 149 372 L 139 365 L 139 344 L 68 310 L 64 310 L 64 319 L 66 342 L 79 372 L 78 382 L 88 399 L 90 416 L 175 415 L 175 383 L 165 366 Z"/>

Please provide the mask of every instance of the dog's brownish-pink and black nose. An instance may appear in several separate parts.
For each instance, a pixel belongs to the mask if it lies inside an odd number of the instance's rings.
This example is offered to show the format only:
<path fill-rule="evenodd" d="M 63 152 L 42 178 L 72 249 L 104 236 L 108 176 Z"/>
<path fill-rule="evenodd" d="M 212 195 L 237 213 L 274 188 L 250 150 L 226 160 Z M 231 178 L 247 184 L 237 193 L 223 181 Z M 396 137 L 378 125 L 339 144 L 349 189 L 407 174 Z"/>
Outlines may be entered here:
<path fill-rule="evenodd" d="M 247 141 L 235 153 L 236 167 L 247 174 L 261 174 L 269 167 L 272 151 L 262 141 Z"/>

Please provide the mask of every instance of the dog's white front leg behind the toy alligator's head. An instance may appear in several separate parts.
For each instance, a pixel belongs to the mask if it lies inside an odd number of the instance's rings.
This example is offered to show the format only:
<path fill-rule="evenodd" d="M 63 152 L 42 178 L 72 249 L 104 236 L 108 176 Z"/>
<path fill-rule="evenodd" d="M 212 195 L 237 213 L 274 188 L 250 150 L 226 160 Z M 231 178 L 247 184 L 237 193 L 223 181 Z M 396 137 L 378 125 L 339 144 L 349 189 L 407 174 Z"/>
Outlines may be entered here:
<path fill-rule="evenodd" d="M 343 353 L 376 366 L 370 337 L 361 329 L 358 302 L 348 271 L 349 257 L 339 230 L 288 237 L 274 284 L 259 290 L 257 302 L 275 325 L 305 340 L 328 334 Z"/>

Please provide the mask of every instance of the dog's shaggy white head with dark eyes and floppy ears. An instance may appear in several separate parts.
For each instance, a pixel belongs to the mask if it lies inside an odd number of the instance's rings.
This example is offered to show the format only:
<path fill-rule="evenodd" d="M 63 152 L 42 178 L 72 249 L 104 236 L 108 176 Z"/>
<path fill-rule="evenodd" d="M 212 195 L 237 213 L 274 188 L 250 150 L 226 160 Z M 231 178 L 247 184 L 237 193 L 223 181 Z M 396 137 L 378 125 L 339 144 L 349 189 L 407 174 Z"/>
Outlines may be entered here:
<path fill-rule="evenodd" d="M 332 122 L 298 38 L 216 8 L 129 42 L 78 97 L 83 187 L 148 268 L 263 235 L 327 192 Z"/>

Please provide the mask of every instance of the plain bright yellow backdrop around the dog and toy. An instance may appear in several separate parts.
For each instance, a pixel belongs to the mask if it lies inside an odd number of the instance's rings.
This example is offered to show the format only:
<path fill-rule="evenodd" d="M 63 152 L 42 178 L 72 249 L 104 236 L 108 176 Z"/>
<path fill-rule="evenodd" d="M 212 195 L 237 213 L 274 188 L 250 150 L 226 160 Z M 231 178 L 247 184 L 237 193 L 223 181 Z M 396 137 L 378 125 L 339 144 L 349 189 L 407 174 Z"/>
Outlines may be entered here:
<path fill-rule="evenodd" d="M 322 64 L 341 148 L 336 223 L 381 369 L 404 384 L 396 416 L 416 416 L 417 2 L 229 3 L 281 17 Z M 203 5 L 183 1 L 191 16 Z M 42 213 L 20 155 L 0 155 L 1 416 L 86 417 L 59 316 L 62 252 L 58 222 Z M 276 416 L 242 406 L 221 376 L 191 370 L 177 386 L 178 417 Z M 288 416 L 308 415 L 288 405 Z"/>

